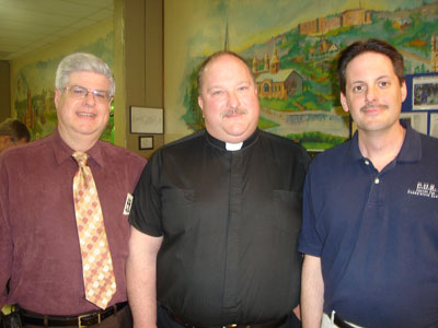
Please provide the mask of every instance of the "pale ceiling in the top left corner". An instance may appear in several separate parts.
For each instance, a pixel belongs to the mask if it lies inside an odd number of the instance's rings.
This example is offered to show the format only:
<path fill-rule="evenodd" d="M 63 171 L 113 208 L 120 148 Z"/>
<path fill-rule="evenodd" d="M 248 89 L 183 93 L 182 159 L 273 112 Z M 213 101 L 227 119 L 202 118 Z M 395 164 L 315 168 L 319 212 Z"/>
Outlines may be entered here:
<path fill-rule="evenodd" d="M 0 0 L 0 60 L 48 46 L 113 12 L 113 0 Z"/>

